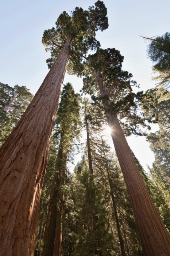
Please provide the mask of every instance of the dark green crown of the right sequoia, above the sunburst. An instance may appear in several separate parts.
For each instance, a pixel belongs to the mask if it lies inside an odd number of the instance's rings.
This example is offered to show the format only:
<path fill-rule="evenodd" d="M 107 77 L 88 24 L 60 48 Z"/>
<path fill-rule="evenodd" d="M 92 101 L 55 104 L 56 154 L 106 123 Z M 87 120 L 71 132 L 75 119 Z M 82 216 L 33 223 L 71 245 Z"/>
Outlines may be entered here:
<path fill-rule="evenodd" d="M 143 91 L 134 93 L 132 87 L 138 87 L 132 80 L 132 74 L 121 69 L 123 56 L 115 48 L 98 49 L 93 55 L 89 55 L 84 63 L 85 69 L 83 75 L 84 86 L 82 91 L 91 95 L 94 103 L 100 101 L 111 101 L 108 111 L 118 114 L 120 120 L 125 119 L 123 125 L 124 132 L 127 135 L 136 133 L 142 135 L 139 124 L 146 127 L 146 118 L 142 113 L 142 108 L 147 108 L 146 102 L 154 105 L 150 94 L 144 94 Z M 100 96 L 96 77 L 99 77 L 102 86 L 107 94 Z M 151 122 L 151 118 L 147 121 Z M 149 127 L 148 127 L 149 128 Z"/>

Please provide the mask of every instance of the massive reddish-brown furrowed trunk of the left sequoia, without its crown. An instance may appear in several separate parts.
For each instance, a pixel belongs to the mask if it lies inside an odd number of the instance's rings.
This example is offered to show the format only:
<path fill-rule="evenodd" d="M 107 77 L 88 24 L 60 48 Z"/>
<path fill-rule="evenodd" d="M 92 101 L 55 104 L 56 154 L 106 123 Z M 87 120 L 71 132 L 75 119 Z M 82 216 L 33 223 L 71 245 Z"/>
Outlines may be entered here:
<path fill-rule="evenodd" d="M 34 253 L 50 135 L 69 59 L 66 43 L 0 150 L 0 256 Z"/>

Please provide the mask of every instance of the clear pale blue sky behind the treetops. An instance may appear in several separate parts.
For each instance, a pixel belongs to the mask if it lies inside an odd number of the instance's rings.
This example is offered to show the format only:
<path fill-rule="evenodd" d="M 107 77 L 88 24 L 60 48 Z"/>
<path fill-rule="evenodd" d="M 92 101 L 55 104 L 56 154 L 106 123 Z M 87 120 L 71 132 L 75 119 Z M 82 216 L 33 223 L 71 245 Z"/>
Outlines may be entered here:
<path fill-rule="evenodd" d="M 94 1 L 95 2 L 95 1 Z M 0 5 L 0 82 L 26 86 L 35 94 L 49 71 L 50 56 L 41 43 L 45 29 L 55 26 L 61 12 L 74 7 L 88 9 L 91 0 L 5 0 Z M 152 37 L 169 31 L 169 0 L 105 0 L 109 28 L 97 32 L 102 48 L 120 50 L 123 69 L 131 72 L 140 90 L 154 87 L 152 63 L 146 57 L 146 45 L 139 35 Z M 66 75 L 78 92 L 82 81 Z M 154 128 L 155 129 L 155 128 Z M 128 138 L 130 147 L 146 169 L 154 160 L 144 137 Z"/>

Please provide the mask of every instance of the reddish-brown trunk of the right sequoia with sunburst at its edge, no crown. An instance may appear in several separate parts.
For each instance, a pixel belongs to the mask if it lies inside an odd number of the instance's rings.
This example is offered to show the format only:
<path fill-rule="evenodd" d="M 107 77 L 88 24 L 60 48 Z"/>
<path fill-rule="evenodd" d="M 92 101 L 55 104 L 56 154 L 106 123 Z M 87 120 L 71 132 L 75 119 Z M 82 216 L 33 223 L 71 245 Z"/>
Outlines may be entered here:
<path fill-rule="evenodd" d="M 144 184 L 117 115 L 109 110 L 111 101 L 106 98 L 106 95 L 108 97 L 107 90 L 102 84 L 101 78 L 99 78 L 97 73 L 96 75 L 100 94 L 103 97 L 108 125 L 111 128 L 113 144 L 142 241 L 143 251 L 146 256 L 170 256 L 170 235 Z"/>

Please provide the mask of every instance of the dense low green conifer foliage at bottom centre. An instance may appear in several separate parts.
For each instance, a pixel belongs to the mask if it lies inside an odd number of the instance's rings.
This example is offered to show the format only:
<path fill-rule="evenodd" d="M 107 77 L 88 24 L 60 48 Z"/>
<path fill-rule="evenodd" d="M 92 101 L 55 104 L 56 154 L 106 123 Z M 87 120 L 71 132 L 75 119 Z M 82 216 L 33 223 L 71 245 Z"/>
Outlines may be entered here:
<path fill-rule="evenodd" d="M 86 164 L 80 163 L 75 170 L 77 197 L 77 236 L 74 256 L 114 255 L 112 234 L 108 228 L 108 212 L 104 206 L 101 188 L 92 182 L 92 174 Z M 94 194 L 91 191 L 95 191 Z"/>

